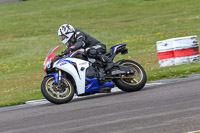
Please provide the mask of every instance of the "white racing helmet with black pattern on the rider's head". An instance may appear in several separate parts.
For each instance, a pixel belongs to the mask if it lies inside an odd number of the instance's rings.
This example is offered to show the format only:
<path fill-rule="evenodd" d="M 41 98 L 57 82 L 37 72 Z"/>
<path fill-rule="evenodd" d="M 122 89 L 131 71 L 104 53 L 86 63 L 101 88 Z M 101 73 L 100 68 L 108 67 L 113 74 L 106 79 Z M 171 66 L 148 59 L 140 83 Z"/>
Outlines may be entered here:
<path fill-rule="evenodd" d="M 63 44 L 66 44 L 69 47 L 68 41 L 71 39 L 73 34 L 75 33 L 75 29 L 70 24 L 63 24 L 58 29 L 58 36 L 60 36 Z"/>

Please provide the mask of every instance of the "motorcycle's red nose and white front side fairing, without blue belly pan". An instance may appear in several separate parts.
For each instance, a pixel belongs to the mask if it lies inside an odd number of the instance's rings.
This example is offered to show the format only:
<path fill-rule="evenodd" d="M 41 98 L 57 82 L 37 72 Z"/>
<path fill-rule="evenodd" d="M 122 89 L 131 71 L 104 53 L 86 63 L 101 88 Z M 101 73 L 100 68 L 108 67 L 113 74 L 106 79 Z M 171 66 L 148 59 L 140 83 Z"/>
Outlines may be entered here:
<path fill-rule="evenodd" d="M 61 70 L 62 72 L 66 73 L 67 75 L 71 75 L 74 79 L 74 82 L 76 84 L 77 94 L 84 94 L 85 93 L 85 75 L 86 70 L 89 67 L 89 62 L 82 59 L 74 58 L 74 56 L 78 53 L 84 53 L 84 50 L 77 50 L 73 53 L 70 53 L 64 57 L 61 57 L 61 59 L 58 59 L 52 64 L 53 59 L 55 58 L 55 55 L 53 52 L 58 48 L 53 48 L 49 51 L 47 58 L 44 63 L 44 70 L 47 72 L 48 75 L 57 75 L 56 70 Z M 50 69 L 48 69 L 46 66 L 48 66 L 48 61 L 52 64 Z M 52 70 L 52 71 L 49 71 Z M 55 77 L 57 78 L 57 77 Z"/>

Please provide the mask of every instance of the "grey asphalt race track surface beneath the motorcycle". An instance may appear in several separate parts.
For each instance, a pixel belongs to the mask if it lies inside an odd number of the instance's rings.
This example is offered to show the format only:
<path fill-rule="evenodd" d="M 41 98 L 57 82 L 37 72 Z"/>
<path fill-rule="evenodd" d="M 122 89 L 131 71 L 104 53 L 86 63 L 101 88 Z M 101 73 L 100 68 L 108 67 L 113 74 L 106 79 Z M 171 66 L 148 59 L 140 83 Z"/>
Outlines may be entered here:
<path fill-rule="evenodd" d="M 133 93 L 0 110 L 0 133 L 186 133 L 200 130 L 200 77 Z"/>

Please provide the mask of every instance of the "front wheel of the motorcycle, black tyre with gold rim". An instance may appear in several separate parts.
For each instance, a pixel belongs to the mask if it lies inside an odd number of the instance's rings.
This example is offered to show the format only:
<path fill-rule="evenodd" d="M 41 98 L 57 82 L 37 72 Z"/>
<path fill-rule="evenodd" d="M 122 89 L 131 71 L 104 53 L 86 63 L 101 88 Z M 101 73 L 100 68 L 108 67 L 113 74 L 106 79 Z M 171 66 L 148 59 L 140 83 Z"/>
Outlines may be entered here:
<path fill-rule="evenodd" d="M 43 96 L 55 104 L 63 104 L 72 100 L 74 97 L 74 87 L 66 78 L 62 79 L 61 87 L 55 82 L 54 76 L 45 77 L 41 84 Z"/>

